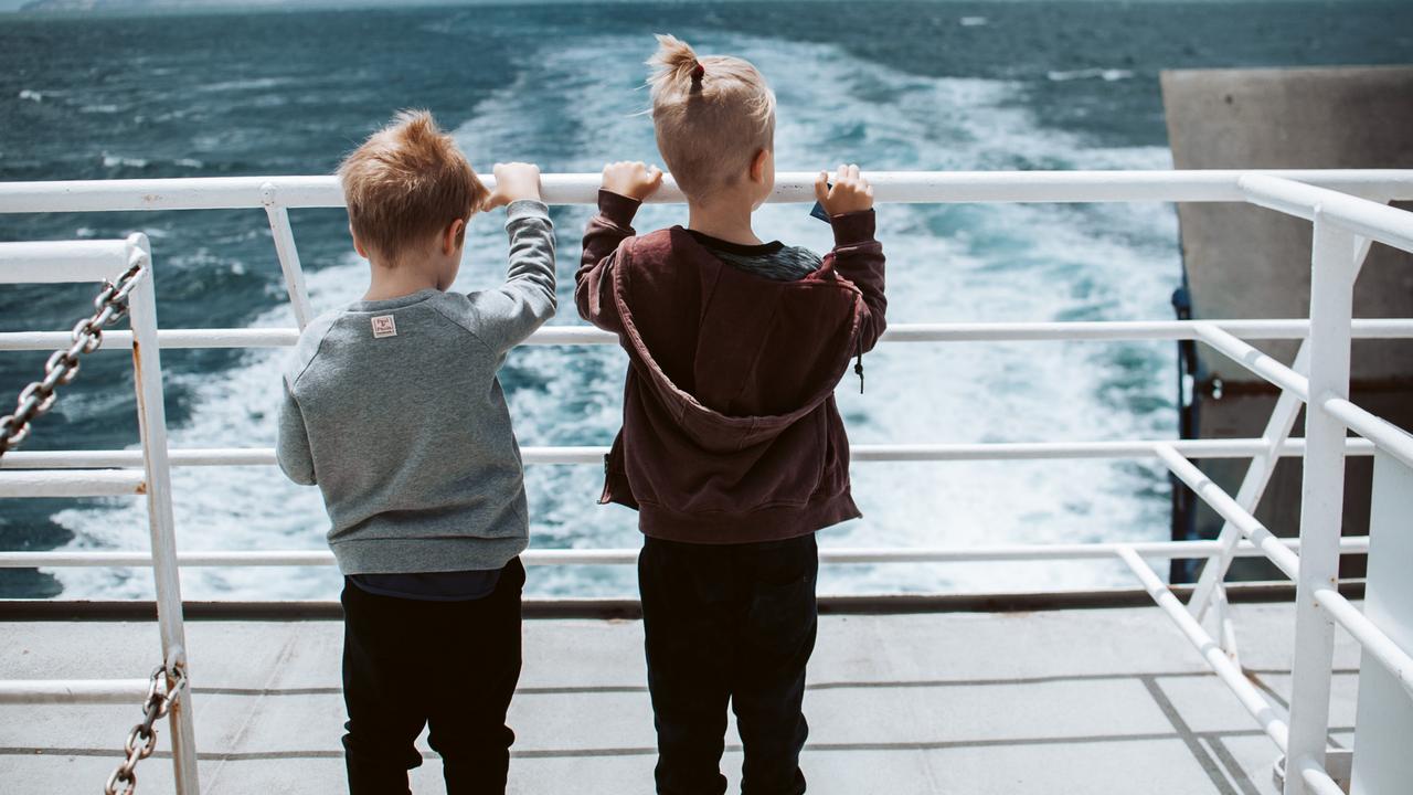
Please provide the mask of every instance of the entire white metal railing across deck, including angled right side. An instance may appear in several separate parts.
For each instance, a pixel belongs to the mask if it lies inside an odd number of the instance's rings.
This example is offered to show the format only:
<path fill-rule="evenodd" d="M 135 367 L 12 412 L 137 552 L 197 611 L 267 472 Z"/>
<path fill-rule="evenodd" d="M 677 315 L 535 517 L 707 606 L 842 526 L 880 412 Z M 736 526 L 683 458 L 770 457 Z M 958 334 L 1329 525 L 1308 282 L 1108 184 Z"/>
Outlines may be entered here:
<path fill-rule="evenodd" d="M 1334 787 L 1325 768 L 1328 687 L 1331 678 L 1331 627 L 1338 622 L 1409 689 L 1413 671 L 1406 649 L 1373 625 L 1332 588 L 1341 552 L 1366 553 L 1368 538 L 1340 538 L 1345 455 L 1386 451 L 1413 463 L 1413 437 L 1348 400 L 1348 352 L 1352 338 L 1413 338 L 1413 320 L 1352 320 L 1351 289 L 1371 240 L 1413 250 L 1413 214 L 1386 207 L 1392 199 L 1413 199 L 1413 171 L 1074 171 L 1074 173 L 873 173 L 869 180 L 885 202 L 1251 202 L 1313 221 L 1316 228 L 1313 300 L 1310 320 L 1201 320 L 1139 323 L 971 323 L 894 325 L 885 342 L 916 341 L 1053 341 L 1053 340 L 1200 340 L 1280 388 L 1280 399 L 1259 439 L 1231 440 L 1123 440 L 1074 443 L 1000 444 L 873 444 L 856 446 L 853 460 L 957 461 L 1017 458 L 1156 458 L 1193 488 L 1225 521 L 1221 535 L 1208 542 L 1092 543 L 1047 546 L 995 546 L 974 549 L 825 549 L 827 563 L 979 562 L 979 560 L 1078 560 L 1118 559 L 1193 642 L 1214 672 L 1294 762 L 1287 770 L 1286 795 L 1324 792 Z M 814 174 L 780 174 L 771 201 L 814 199 Z M 591 204 L 596 174 L 545 174 L 544 195 L 551 204 Z M 650 201 L 675 202 L 681 194 L 668 178 Z M 263 208 L 274 235 L 294 315 L 300 327 L 309 320 L 308 297 L 298 260 L 290 208 L 342 207 L 332 177 L 236 177 L 196 180 L 129 180 L 82 182 L 0 184 L 0 212 L 100 212 L 143 209 Z M 62 246 L 71 243 L 34 243 Z M 38 250 L 38 249 L 27 249 Z M 0 256 L 0 282 L 7 277 Z M 148 280 L 148 290 L 151 282 Z M 150 301 L 150 291 L 147 298 Z M 134 306 L 134 310 L 137 307 Z M 148 310 L 144 310 L 148 311 Z M 155 315 L 144 315 L 155 317 Z M 140 321 L 134 311 L 133 334 L 110 332 L 110 347 L 133 347 L 155 354 L 162 348 L 285 347 L 298 328 L 276 330 L 164 330 Z M 1303 340 L 1293 366 L 1284 366 L 1253 348 L 1251 340 Z M 66 341 L 64 334 L 0 334 L 0 349 L 47 349 Z M 613 337 L 584 327 L 548 327 L 530 344 L 609 344 Z M 151 362 L 147 365 L 146 362 Z M 157 389 L 155 355 L 141 358 L 144 390 Z M 1311 399 L 1311 396 L 1314 396 Z M 150 398 L 150 395 L 148 395 Z M 151 566 L 158 571 L 158 605 L 164 621 L 174 622 L 179 648 L 181 603 L 175 573 L 179 566 L 309 566 L 332 564 L 325 550 L 203 552 L 177 555 L 172 545 L 170 494 L 171 465 L 273 465 L 268 448 L 167 450 L 161 400 L 140 403 L 144 419 L 141 451 L 95 450 L 65 453 L 10 453 L 0 458 L 0 497 L 137 494 L 144 492 L 153 516 L 151 552 L 4 552 L 0 567 L 34 566 Z M 1306 439 L 1290 439 L 1303 406 Z M 151 431 L 148 433 L 148 424 Z M 1362 439 L 1345 439 L 1345 429 Z M 41 430 L 42 431 L 42 430 Z M 599 463 L 599 447 L 526 448 L 527 464 Z M 1276 461 L 1304 458 L 1301 526 L 1299 542 L 1277 539 L 1252 515 Z M 1249 458 L 1246 478 L 1236 497 L 1212 484 L 1191 458 Z M 136 467 L 143 465 L 143 470 Z M 153 488 L 153 484 L 160 484 Z M 1297 581 L 1294 689 L 1289 714 L 1269 702 L 1245 679 L 1235 662 L 1234 634 L 1225 617 L 1222 579 L 1236 556 L 1265 556 Z M 1184 605 L 1143 560 L 1205 559 L 1197 588 Z M 528 550 L 531 564 L 630 564 L 632 549 Z M 162 583 L 167 581 L 164 586 Z M 1210 608 L 1219 617 L 1221 638 L 1202 627 Z M 162 632 L 164 644 L 168 631 Z M 130 682 L 113 683 L 0 683 L 0 700 L 110 700 L 127 692 Z M 178 716 L 174 713 L 174 721 Z M 175 726 L 177 723 L 174 723 Z M 189 720 L 185 736 L 174 744 L 178 758 L 178 792 L 196 792 Z M 182 770 L 185 767 L 185 770 Z"/>

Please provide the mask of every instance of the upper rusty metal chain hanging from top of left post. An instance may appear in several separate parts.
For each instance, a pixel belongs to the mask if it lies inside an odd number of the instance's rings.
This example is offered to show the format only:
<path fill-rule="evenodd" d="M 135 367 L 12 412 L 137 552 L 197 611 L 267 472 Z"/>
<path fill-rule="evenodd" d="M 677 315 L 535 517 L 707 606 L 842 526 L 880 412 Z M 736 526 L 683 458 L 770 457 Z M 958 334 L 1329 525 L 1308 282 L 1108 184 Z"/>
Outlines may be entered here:
<path fill-rule="evenodd" d="M 92 354 L 103 344 L 103 328 L 127 317 L 127 297 L 147 272 L 146 263 L 146 257 L 137 259 L 116 284 L 103 280 L 103 290 L 93 298 L 93 314 L 73 325 L 73 344 L 55 351 L 44 365 L 44 379 L 25 386 L 14 413 L 0 417 L 0 457 L 18 447 L 30 436 L 30 423 L 54 407 L 59 399 L 57 389 L 79 373 L 79 355 Z"/>

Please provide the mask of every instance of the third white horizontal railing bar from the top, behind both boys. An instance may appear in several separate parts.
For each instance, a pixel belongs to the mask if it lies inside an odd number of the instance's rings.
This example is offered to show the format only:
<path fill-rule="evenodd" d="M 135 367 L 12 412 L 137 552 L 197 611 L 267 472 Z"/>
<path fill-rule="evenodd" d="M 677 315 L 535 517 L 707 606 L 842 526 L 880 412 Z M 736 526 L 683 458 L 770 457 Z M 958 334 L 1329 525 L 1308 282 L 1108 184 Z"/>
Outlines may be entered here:
<path fill-rule="evenodd" d="M 853 461 L 1017 461 L 1074 458 L 1153 458 L 1159 447 L 1191 458 L 1249 458 L 1265 454 L 1260 439 L 1181 439 L 1135 441 L 996 441 L 952 444 L 855 444 Z M 1303 439 L 1284 441 L 1280 455 L 1303 455 Z M 1348 455 L 1372 455 L 1373 443 L 1351 439 Z M 602 464 L 608 447 L 523 447 L 527 464 Z M 177 467 L 273 467 L 273 447 L 175 447 L 170 453 Z M 103 467 L 140 467 L 141 450 L 49 450 L 7 453 L 0 470 L 73 470 Z"/>

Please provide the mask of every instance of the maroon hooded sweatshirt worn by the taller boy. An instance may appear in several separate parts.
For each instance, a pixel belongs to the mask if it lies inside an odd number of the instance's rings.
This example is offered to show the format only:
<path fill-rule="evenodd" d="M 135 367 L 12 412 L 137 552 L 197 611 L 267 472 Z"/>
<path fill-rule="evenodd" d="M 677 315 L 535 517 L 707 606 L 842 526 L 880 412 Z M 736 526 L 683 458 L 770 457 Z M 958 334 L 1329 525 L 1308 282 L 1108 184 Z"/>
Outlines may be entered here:
<path fill-rule="evenodd" d="M 681 226 L 634 236 L 639 202 L 599 191 L 575 274 L 579 315 L 629 355 L 623 429 L 601 504 L 644 535 L 788 539 L 861 516 L 834 388 L 883 334 L 873 211 L 831 219 L 835 248 L 798 282 L 716 259 Z"/>

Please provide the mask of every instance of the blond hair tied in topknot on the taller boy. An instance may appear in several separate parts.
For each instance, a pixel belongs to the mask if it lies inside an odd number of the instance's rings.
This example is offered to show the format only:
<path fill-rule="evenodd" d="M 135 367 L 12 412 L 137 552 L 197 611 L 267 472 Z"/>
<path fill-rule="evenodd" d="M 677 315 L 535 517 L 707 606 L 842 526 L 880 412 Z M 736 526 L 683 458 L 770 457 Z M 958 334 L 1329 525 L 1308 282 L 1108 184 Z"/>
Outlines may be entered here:
<path fill-rule="evenodd" d="M 731 185 L 760 150 L 774 150 L 776 95 L 749 61 L 698 58 L 685 41 L 658 35 L 647 65 L 657 150 L 688 197 Z"/>

